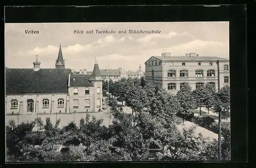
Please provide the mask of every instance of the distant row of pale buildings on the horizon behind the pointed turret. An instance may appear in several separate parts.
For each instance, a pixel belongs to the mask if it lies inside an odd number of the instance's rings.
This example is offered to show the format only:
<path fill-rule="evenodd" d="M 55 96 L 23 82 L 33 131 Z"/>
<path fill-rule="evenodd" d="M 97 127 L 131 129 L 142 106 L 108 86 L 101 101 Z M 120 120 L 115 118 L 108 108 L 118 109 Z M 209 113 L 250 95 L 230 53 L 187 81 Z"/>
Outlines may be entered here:
<path fill-rule="evenodd" d="M 93 72 L 87 71 L 87 69 L 80 69 L 79 71 L 75 71 L 72 69 L 73 74 L 81 74 L 81 75 L 88 75 L 90 76 Z M 144 77 L 144 73 L 141 69 L 141 65 L 139 66 L 139 69 L 137 71 L 128 70 L 125 71 L 122 68 L 118 69 L 100 69 L 100 74 L 103 78 L 103 80 L 112 80 L 113 82 L 116 82 L 122 78 L 141 78 Z"/>

